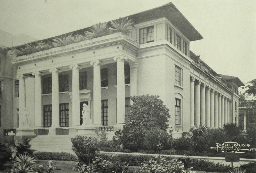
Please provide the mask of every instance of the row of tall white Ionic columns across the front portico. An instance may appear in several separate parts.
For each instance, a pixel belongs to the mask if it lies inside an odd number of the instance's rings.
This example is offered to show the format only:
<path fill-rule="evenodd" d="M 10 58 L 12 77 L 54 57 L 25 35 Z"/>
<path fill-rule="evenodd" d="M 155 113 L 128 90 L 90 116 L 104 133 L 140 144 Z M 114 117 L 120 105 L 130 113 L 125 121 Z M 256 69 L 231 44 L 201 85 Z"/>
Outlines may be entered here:
<path fill-rule="evenodd" d="M 125 125 L 125 84 L 124 84 L 124 56 L 114 57 L 117 62 L 117 125 Z M 101 61 L 91 61 L 93 66 L 93 124 L 101 126 L 101 79 L 100 65 Z M 79 70 L 81 66 L 73 64 L 69 66 L 72 69 L 72 127 L 80 125 L 80 93 L 79 93 Z M 52 73 L 52 128 L 60 127 L 59 118 L 59 73 L 57 68 L 49 70 Z M 138 64 L 130 63 L 130 94 L 138 95 Z M 39 71 L 33 72 L 35 76 L 35 128 L 42 128 L 42 76 Z M 22 114 L 25 108 L 25 76 L 19 75 L 19 108 Z M 20 119 L 21 121 L 21 119 Z M 21 124 L 21 122 L 20 122 Z"/>

